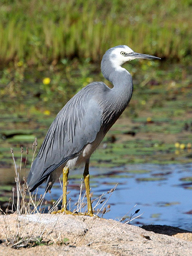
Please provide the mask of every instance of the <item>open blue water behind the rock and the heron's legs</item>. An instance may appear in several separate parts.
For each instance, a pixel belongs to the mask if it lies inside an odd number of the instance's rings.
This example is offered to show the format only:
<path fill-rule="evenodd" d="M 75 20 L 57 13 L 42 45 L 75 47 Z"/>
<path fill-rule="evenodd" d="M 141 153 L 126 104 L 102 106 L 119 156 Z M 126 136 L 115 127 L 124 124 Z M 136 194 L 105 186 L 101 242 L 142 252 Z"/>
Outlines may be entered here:
<path fill-rule="evenodd" d="M 78 179 L 74 178 L 75 175 Z M 73 203 L 79 196 L 79 175 L 83 176 L 83 169 L 71 171 L 69 174 L 68 191 L 71 192 L 68 198 L 71 197 Z M 137 204 L 128 215 L 137 209 L 140 209 L 137 215 L 144 213 L 131 222 L 134 225 L 171 225 L 192 231 L 192 180 L 182 181 L 186 177 L 192 179 L 192 163 L 90 168 L 90 175 L 94 197 L 119 183 L 108 200 L 111 207 L 104 218 L 121 219 Z M 39 193 L 43 194 L 44 188 L 44 185 L 41 186 Z M 51 195 L 46 195 L 48 200 L 50 196 L 56 200 L 62 194 L 59 183 L 55 183 L 51 191 Z"/>

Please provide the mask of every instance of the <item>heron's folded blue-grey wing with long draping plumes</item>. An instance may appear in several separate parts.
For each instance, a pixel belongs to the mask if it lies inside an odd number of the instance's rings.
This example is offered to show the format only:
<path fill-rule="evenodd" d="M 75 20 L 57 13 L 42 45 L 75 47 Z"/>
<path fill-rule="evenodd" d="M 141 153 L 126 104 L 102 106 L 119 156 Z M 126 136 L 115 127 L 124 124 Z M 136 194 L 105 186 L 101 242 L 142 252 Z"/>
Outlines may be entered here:
<path fill-rule="evenodd" d="M 28 175 L 27 183 L 31 191 L 48 179 L 52 171 L 77 156 L 84 146 L 96 139 L 102 125 L 102 109 L 96 95 L 106 87 L 101 82 L 87 85 L 60 110 Z"/>

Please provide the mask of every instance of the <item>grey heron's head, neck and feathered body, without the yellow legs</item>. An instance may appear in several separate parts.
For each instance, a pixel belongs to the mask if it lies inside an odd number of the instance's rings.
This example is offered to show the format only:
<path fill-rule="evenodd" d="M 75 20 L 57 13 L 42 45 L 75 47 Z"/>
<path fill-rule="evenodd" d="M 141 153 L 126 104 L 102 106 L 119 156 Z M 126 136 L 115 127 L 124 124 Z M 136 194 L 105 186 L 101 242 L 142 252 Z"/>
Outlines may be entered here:
<path fill-rule="evenodd" d="M 132 97 L 132 76 L 121 65 L 138 58 L 132 57 L 133 53 L 127 46 L 109 49 L 103 56 L 101 71 L 113 88 L 102 82 L 91 83 L 60 110 L 32 164 L 27 179 L 30 191 L 45 180 L 50 189 L 64 166 L 72 169 L 89 163 L 90 156 Z M 150 55 L 143 58 L 146 56 Z M 152 58 L 158 59 L 148 57 Z"/>

